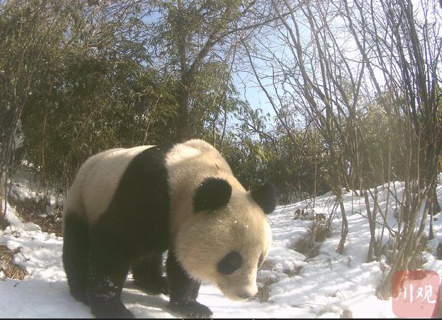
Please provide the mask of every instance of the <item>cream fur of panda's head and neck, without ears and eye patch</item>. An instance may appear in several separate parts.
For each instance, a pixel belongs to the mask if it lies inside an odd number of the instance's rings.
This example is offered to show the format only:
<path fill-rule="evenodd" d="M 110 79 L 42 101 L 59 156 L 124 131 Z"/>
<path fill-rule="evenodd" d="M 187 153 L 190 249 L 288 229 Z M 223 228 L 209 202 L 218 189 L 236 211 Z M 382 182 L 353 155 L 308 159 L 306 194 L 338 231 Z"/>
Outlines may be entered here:
<path fill-rule="evenodd" d="M 267 256 L 270 227 L 262 209 L 233 176 L 229 164 L 210 144 L 189 140 L 177 144 L 166 158 L 171 186 L 171 228 L 178 260 L 195 279 L 211 281 L 231 299 L 254 295 L 260 254 Z M 208 177 L 232 187 L 228 205 L 214 212 L 193 212 L 193 196 Z M 230 275 L 217 271 L 229 252 L 242 255 L 242 266 Z"/>

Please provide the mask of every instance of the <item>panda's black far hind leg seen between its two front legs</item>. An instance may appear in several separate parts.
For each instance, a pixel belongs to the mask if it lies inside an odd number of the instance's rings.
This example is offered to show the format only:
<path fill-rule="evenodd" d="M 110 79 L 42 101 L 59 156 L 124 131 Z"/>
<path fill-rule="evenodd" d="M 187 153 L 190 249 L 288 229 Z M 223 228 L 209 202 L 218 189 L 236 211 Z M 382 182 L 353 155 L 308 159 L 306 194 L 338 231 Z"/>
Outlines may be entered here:
<path fill-rule="evenodd" d="M 149 294 L 169 294 L 169 285 L 162 271 L 162 252 L 143 254 L 132 264 L 135 285 Z"/>

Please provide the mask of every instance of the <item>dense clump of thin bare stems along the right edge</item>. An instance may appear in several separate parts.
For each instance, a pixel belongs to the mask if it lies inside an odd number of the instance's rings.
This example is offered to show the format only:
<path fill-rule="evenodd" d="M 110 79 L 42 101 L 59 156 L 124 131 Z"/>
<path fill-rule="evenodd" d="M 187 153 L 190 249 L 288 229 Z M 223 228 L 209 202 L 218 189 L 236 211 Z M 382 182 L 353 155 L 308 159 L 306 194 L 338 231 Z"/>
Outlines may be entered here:
<path fill-rule="evenodd" d="M 381 297 L 391 293 L 392 274 L 406 270 L 419 254 L 427 216 L 429 237 L 433 237 L 432 216 L 440 210 L 435 193 L 442 152 L 441 118 L 437 115 L 441 108 L 442 37 L 437 5 L 436 1 L 345 1 L 345 19 L 376 93 L 387 98 L 382 104 L 389 117 L 403 119 L 407 128 L 397 132 L 406 145 L 405 194 L 392 250 L 396 254 L 392 257 L 392 269 L 379 288 Z M 381 73 L 384 84 L 375 71 Z M 423 217 L 418 223 L 421 208 Z"/>

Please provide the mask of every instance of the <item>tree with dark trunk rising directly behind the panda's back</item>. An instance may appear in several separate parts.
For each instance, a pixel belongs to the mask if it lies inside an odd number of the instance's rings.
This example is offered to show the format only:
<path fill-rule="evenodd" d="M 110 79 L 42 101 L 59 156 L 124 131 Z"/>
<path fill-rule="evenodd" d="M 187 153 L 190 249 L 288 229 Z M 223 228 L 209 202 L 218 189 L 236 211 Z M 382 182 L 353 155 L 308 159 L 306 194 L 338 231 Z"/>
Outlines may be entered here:
<path fill-rule="evenodd" d="M 224 60 L 231 48 L 278 17 L 267 1 L 154 1 L 160 13 L 162 32 L 155 31 L 157 44 L 168 72 L 177 69 L 179 120 L 177 140 L 192 135 L 189 132 L 191 95 L 200 68 L 208 59 Z M 166 40 L 164 40 L 166 39 Z M 156 45 L 156 44 L 155 44 Z"/>

